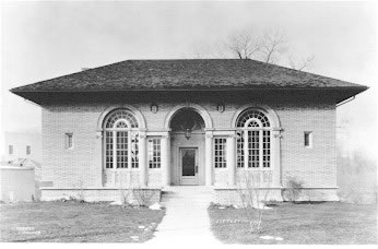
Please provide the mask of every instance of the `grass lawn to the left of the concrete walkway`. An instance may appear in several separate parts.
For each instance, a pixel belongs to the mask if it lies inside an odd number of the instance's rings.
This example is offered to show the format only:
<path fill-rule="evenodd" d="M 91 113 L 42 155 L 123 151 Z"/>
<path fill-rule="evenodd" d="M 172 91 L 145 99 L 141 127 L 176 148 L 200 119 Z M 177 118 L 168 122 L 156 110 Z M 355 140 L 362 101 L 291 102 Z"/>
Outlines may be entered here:
<path fill-rule="evenodd" d="M 164 214 L 108 203 L 1 204 L 0 241 L 143 242 Z"/>

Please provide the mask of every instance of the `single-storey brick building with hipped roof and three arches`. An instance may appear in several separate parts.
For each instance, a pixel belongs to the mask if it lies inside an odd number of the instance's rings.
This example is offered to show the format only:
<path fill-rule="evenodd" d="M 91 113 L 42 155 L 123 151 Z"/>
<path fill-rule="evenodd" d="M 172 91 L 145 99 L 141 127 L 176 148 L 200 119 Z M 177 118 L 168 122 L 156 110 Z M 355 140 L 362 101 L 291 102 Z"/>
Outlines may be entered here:
<path fill-rule="evenodd" d="M 336 200 L 335 108 L 367 87 L 253 60 L 127 60 L 21 86 L 43 108 L 42 198 L 215 189 L 245 176 L 282 200 L 288 177 Z"/>

